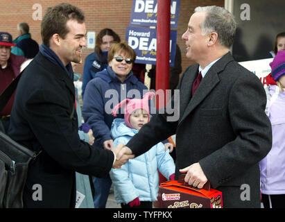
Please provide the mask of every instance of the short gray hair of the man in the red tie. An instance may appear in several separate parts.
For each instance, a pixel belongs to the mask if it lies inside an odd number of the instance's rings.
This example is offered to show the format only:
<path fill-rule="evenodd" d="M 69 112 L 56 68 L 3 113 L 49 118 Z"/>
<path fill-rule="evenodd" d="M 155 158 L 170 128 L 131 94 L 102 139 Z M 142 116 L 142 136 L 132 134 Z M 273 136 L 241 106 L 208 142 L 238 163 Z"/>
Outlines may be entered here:
<path fill-rule="evenodd" d="M 230 49 L 236 34 L 234 16 L 225 8 L 218 6 L 197 7 L 194 12 L 206 13 L 204 21 L 200 24 L 202 35 L 215 32 L 218 34 L 218 42 Z"/>

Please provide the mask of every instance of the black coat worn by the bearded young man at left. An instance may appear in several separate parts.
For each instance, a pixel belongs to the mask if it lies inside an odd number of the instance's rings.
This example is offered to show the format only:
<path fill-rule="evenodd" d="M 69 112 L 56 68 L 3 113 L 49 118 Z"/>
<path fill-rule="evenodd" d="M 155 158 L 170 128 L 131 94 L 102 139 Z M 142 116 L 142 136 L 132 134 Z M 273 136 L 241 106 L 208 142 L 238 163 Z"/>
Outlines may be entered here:
<path fill-rule="evenodd" d="M 74 101 L 73 80 L 38 53 L 19 80 L 9 130 L 12 139 L 42 151 L 28 171 L 24 207 L 74 207 L 75 171 L 102 177 L 112 167 L 112 151 L 79 139 Z M 33 185 L 42 187 L 42 200 Z"/>

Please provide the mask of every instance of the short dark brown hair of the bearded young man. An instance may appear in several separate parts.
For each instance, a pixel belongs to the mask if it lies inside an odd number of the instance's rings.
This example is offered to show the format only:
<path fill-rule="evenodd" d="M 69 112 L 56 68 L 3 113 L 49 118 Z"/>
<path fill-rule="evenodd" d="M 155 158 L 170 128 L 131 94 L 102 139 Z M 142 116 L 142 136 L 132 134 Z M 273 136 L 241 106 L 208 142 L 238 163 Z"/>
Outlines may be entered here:
<path fill-rule="evenodd" d="M 49 40 L 55 33 L 64 38 L 69 33 L 69 28 L 67 28 L 69 19 L 76 20 L 80 24 L 85 22 L 83 11 L 68 3 L 60 3 L 58 6 L 47 8 L 41 24 L 42 42 L 49 46 Z"/>

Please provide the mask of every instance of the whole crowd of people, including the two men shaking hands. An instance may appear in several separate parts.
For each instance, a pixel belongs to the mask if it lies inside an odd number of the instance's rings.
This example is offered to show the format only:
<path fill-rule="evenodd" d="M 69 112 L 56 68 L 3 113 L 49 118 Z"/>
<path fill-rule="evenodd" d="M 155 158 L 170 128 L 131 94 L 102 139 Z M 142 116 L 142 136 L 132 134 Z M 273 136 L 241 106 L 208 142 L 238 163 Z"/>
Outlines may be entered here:
<path fill-rule="evenodd" d="M 230 12 L 197 7 L 185 26 L 186 57 L 195 64 L 178 83 L 177 47 L 176 121 L 168 121 L 168 112 L 150 112 L 155 93 L 141 81 L 144 67 L 137 71 L 135 51 L 110 28 L 96 36 L 83 76 L 76 73 L 87 46 L 80 8 L 48 8 L 40 46 L 26 23 L 17 24 L 14 41 L 0 32 L 0 93 L 24 69 L 1 124 L 16 142 L 41 151 L 30 164 L 24 207 L 104 208 L 113 184 L 122 208 L 151 208 L 158 171 L 167 180 L 185 173 L 184 181 L 199 189 L 210 182 L 222 191 L 224 207 L 260 207 L 261 201 L 285 207 L 284 33 L 276 37 L 264 90 L 230 53 L 236 32 Z M 81 77 L 82 108 L 74 87 Z M 166 140 L 171 135 L 175 160 Z M 43 187 L 41 201 L 33 200 L 35 184 Z M 247 200 L 241 199 L 244 184 L 250 186 Z"/>

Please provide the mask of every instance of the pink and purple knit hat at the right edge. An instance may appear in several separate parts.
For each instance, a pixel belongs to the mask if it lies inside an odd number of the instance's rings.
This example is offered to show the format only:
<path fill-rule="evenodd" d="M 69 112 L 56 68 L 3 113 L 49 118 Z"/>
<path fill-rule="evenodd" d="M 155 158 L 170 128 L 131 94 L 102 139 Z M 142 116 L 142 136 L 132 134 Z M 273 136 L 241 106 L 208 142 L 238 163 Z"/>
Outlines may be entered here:
<path fill-rule="evenodd" d="M 278 51 L 273 62 L 270 62 L 271 76 L 277 81 L 285 75 L 285 51 Z"/>

